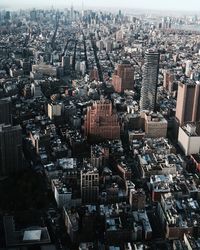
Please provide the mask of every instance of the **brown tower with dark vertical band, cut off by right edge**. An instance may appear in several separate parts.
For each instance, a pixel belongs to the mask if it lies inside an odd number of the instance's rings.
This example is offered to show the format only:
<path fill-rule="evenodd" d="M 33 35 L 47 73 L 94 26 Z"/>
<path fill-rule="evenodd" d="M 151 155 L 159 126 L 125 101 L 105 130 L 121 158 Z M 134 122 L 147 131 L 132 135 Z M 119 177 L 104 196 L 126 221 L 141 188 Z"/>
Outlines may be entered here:
<path fill-rule="evenodd" d="M 179 83 L 176 105 L 176 118 L 180 125 L 200 120 L 200 84 Z"/>

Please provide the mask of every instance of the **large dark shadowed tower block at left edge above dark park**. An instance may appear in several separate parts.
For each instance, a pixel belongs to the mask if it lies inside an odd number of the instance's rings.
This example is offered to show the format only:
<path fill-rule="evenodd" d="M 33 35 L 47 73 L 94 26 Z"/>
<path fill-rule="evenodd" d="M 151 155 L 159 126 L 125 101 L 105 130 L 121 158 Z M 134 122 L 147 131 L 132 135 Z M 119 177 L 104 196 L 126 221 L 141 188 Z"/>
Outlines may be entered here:
<path fill-rule="evenodd" d="M 0 175 L 19 171 L 22 161 L 22 132 L 20 126 L 0 125 Z"/>

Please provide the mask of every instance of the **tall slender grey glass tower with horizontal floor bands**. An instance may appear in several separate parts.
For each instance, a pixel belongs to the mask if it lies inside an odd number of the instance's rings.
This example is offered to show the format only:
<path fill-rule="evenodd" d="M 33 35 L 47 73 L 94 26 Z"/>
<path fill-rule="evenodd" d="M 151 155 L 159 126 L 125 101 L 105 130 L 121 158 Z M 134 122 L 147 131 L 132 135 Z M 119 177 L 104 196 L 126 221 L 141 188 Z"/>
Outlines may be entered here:
<path fill-rule="evenodd" d="M 155 111 L 160 54 L 154 50 L 145 52 L 140 110 Z"/>

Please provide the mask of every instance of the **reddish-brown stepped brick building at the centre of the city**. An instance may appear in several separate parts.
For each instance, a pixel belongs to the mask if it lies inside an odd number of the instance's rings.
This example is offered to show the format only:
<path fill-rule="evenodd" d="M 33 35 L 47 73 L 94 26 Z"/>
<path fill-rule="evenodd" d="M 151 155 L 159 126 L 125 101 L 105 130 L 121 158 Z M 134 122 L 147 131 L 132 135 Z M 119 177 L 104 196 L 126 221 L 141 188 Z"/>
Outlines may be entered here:
<path fill-rule="evenodd" d="M 109 100 L 100 100 L 88 107 L 84 122 L 85 136 L 97 139 L 120 138 L 118 116 Z"/>

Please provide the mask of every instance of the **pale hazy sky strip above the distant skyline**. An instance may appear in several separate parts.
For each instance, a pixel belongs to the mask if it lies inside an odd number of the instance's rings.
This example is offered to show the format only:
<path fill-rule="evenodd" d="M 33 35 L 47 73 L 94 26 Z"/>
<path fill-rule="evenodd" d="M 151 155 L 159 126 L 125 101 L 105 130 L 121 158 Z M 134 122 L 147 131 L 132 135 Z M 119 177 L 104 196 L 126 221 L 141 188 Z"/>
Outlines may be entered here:
<path fill-rule="evenodd" d="M 83 0 L 86 7 L 142 8 L 200 11 L 200 0 Z M 0 0 L 0 7 L 81 6 L 82 0 Z"/>

